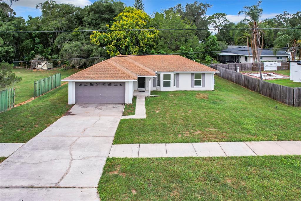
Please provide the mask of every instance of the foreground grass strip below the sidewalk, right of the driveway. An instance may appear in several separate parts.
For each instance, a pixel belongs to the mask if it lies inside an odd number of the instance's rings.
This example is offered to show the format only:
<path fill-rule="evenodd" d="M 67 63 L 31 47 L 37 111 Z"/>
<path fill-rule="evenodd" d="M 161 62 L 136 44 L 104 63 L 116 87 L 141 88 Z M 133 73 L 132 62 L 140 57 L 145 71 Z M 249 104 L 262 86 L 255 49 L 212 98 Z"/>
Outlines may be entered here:
<path fill-rule="evenodd" d="M 301 156 L 108 158 L 101 200 L 301 200 Z"/>

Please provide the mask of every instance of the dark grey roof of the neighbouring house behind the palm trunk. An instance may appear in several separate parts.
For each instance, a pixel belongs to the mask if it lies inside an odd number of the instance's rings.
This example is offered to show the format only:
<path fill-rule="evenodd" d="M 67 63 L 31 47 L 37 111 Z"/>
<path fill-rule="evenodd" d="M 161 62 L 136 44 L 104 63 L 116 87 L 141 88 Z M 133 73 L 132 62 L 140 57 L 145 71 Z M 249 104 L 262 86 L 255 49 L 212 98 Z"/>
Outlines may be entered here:
<path fill-rule="evenodd" d="M 227 48 L 225 50 L 222 50 L 222 53 L 231 53 L 236 55 L 245 55 L 245 56 L 252 56 L 251 47 L 247 46 L 238 46 L 234 48 Z M 218 53 L 220 54 L 220 53 Z M 276 55 L 274 55 L 273 50 L 270 49 L 262 49 L 260 56 L 289 56 L 289 54 L 285 53 L 283 50 L 279 50 L 276 52 Z"/>

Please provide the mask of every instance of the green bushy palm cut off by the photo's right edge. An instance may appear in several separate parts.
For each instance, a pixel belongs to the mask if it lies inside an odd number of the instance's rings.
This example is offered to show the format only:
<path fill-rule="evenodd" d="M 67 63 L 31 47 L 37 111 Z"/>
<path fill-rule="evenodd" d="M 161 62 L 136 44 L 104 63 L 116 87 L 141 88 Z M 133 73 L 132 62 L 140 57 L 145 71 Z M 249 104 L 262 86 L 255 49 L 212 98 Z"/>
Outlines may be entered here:
<path fill-rule="evenodd" d="M 292 60 L 295 61 L 297 48 L 301 46 L 301 30 L 300 29 L 287 29 L 278 32 L 277 38 L 274 42 L 274 48 L 287 47 L 290 52 Z M 274 54 L 277 50 L 274 49 Z"/>

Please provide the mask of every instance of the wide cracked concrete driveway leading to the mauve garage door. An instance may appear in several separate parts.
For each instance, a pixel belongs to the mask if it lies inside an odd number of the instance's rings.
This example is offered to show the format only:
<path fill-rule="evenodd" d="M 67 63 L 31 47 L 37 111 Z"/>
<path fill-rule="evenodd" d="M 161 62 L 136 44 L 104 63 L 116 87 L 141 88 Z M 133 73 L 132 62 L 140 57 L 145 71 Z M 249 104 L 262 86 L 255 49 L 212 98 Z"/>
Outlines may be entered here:
<path fill-rule="evenodd" d="M 99 199 L 97 184 L 122 112 L 123 104 L 74 105 L 0 164 L 0 199 Z"/>

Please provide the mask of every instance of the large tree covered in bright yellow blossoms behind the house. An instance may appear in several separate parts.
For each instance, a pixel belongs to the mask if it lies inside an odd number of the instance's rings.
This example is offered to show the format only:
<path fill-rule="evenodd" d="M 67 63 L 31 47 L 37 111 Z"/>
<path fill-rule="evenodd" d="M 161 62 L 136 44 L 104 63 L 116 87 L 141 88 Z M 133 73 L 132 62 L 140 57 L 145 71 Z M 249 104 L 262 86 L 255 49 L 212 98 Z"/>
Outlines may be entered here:
<path fill-rule="evenodd" d="M 126 7 L 114 18 L 109 30 L 154 29 L 150 27 L 151 18 L 142 10 Z M 110 56 L 118 54 L 149 54 L 156 48 L 159 31 L 94 31 L 90 36 L 92 44 L 105 46 Z"/>

